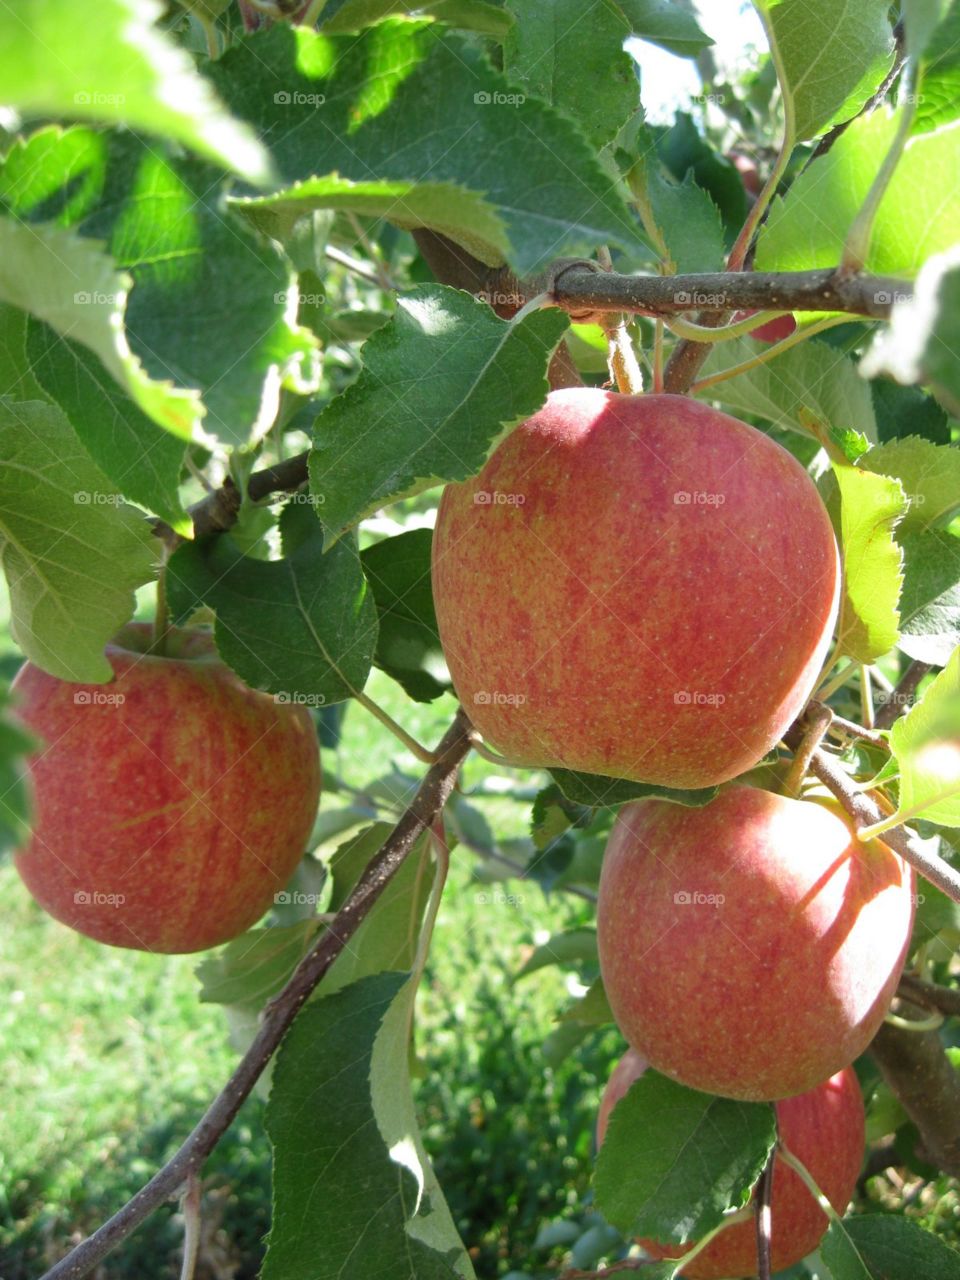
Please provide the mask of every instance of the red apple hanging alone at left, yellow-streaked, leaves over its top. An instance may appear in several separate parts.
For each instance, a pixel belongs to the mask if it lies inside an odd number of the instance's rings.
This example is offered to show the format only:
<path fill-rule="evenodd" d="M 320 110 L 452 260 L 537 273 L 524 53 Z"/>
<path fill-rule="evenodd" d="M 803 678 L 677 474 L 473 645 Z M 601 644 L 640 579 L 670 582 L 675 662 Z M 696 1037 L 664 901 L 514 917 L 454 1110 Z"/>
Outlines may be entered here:
<path fill-rule="evenodd" d="M 142 951 L 204 951 L 250 928 L 283 890 L 320 795 L 305 707 L 248 689 L 212 636 L 150 627 L 108 645 L 115 680 L 81 685 L 26 663 L 19 719 L 33 832 L 17 869 L 37 902 L 87 937 Z M 122 698 L 122 701 L 116 701 Z"/>

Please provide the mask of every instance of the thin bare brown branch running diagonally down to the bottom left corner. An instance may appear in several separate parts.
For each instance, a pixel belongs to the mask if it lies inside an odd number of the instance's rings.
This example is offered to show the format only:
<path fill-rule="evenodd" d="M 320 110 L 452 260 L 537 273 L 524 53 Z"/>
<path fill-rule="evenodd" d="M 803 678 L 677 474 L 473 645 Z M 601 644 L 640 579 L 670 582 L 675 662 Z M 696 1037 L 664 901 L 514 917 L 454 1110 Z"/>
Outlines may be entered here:
<path fill-rule="evenodd" d="M 470 750 L 468 732 L 470 723 L 460 710 L 438 746 L 436 763 L 425 774 L 410 808 L 367 865 L 317 945 L 301 960 L 279 996 L 265 1007 L 253 1043 L 179 1151 L 119 1212 L 55 1263 L 42 1280 L 77 1280 L 88 1275 L 111 1249 L 196 1174 L 233 1123 L 308 996 L 366 919 L 416 840 L 443 809 L 456 783 L 460 765 Z"/>

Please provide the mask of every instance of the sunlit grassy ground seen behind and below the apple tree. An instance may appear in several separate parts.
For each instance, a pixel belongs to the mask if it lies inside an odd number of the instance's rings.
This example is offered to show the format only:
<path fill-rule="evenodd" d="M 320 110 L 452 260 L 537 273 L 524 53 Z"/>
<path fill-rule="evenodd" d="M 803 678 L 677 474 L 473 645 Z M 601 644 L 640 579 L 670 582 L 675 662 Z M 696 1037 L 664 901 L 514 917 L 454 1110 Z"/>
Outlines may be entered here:
<path fill-rule="evenodd" d="M 4 625 L 5 675 L 17 660 Z M 370 690 L 422 741 L 449 722 L 449 696 L 415 705 L 379 672 Z M 325 773 L 362 785 L 393 764 L 417 772 L 351 708 L 339 751 L 324 751 Z M 476 794 L 497 776 L 474 756 L 463 785 L 498 835 L 524 836 L 529 799 Z M 511 781 L 522 788 L 539 778 Z M 347 799 L 325 795 L 321 813 Z M 567 892 L 547 896 L 516 878 L 488 882 L 477 869 L 474 852 L 454 851 L 417 1006 L 417 1106 L 480 1280 L 511 1272 L 545 1280 L 571 1262 L 590 1265 L 609 1240 L 591 1213 L 589 1183 L 596 1106 L 623 1042 L 614 1028 L 598 1029 L 559 1066 L 545 1065 L 544 1038 L 591 974 L 553 966 L 516 984 L 511 977 L 545 934 L 591 924 L 593 911 Z M 73 933 L 37 908 L 9 859 L 0 865 L 0 1276 L 33 1280 L 175 1149 L 236 1056 L 223 1010 L 197 1002 L 198 957 L 119 951 Z M 251 1098 L 207 1162 L 197 1280 L 259 1272 L 270 1206 L 262 1108 L 260 1097 Z M 908 1213 L 960 1244 L 960 1187 L 934 1171 L 931 1178 L 925 1185 L 872 1179 L 860 1207 Z M 180 1238 L 172 1204 L 99 1274 L 175 1280 Z"/>

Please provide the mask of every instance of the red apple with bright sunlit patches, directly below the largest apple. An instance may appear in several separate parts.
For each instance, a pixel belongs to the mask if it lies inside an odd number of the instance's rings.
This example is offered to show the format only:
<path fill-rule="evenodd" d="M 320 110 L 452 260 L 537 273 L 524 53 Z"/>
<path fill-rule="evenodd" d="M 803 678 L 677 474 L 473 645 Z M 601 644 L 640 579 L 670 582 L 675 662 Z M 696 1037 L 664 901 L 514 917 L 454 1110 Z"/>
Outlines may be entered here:
<path fill-rule="evenodd" d="M 790 1097 L 847 1066 L 906 957 L 914 876 L 838 812 L 731 786 L 637 800 L 603 860 L 596 934 L 627 1042 L 705 1093 Z"/>

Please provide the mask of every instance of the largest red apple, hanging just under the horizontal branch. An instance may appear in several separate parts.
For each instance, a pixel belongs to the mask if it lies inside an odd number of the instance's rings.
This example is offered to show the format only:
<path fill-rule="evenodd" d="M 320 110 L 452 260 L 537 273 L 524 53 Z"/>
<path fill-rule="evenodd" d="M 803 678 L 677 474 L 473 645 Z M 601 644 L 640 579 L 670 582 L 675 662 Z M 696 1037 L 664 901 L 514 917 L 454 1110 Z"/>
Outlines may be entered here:
<path fill-rule="evenodd" d="M 454 687 L 494 746 L 704 787 L 800 712 L 840 573 L 813 481 L 769 436 L 686 396 L 576 388 L 447 486 L 433 580 Z"/>

